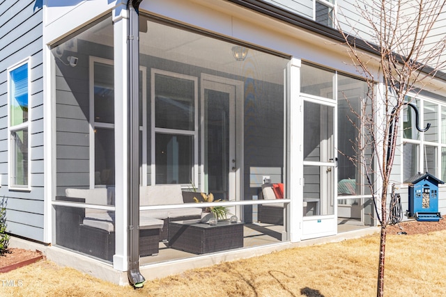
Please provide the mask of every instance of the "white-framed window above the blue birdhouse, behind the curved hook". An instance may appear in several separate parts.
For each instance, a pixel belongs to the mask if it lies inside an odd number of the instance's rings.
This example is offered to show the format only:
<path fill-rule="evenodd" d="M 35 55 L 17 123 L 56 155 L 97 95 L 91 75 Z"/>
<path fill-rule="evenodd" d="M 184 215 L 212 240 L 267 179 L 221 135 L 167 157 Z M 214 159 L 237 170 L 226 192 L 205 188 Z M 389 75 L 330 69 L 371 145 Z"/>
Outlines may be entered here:
<path fill-rule="evenodd" d="M 412 97 L 407 102 L 415 104 L 420 111 L 419 126 L 416 128 L 415 111 L 409 106 L 403 109 L 403 181 L 417 172 L 429 172 L 439 179 L 446 178 L 446 104 L 429 99 Z"/>

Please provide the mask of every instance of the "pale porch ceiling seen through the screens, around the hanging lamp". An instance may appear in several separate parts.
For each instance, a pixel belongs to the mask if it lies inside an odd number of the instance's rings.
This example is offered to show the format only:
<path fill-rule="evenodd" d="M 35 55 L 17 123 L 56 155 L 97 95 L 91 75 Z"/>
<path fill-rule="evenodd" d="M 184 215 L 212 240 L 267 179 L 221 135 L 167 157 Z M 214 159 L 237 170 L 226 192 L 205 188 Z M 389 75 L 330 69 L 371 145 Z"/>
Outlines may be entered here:
<path fill-rule="evenodd" d="M 113 27 L 102 24 L 95 27 L 95 31 L 81 34 L 78 38 L 112 47 Z M 276 60 L 270 54 L 249 49 L 245 61 L 236 61 L 232 54 L 233 46 L 229 42 L 155 22 L 149 22 L 148 30 L 140 32 L 139 48 L 142 54 L 233 75 L 244 76 L 247 71 L 254 71 L 258 79 L 283 83 L 283 58 L 277 57 Z"/>

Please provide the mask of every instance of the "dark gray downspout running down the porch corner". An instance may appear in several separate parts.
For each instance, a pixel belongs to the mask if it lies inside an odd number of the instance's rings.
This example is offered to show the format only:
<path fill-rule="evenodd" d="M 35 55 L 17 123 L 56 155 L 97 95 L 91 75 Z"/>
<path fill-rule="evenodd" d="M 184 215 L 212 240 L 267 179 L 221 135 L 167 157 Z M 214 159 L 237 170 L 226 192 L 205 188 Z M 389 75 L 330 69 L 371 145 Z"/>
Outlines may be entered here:
<path fill-rule="evenodd" d="M 129 168 L 128 168 L 128 279 L 135 288 L 144 286 L 146 279 L 139 271 L 139 3 L 129 0 L 128 26 L 128 88 L 129 88 Z"/>

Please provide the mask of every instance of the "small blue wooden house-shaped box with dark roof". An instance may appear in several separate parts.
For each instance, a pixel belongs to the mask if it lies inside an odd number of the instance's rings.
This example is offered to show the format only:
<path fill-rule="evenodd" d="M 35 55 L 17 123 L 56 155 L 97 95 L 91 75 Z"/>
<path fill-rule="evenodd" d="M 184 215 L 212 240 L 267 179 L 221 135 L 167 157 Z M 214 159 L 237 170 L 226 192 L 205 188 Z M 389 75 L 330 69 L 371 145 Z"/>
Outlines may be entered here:
<path fill-rule="evenodd" d="M 438 212 L 438 184 L 444 182 L 428 172 L 418 172 L 406 183 L 409 184 L 409 210 L 406 215 L 416 220 L 438 222 L 441 218 Z"/>

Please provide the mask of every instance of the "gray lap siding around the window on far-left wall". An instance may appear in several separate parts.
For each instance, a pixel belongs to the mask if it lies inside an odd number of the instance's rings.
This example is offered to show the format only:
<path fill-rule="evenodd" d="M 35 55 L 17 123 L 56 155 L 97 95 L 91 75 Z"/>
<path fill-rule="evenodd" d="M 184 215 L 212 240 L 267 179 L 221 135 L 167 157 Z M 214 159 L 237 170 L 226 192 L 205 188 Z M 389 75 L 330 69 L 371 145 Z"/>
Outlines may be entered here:
<path fill-rule="evenodd" d="M 35 5 L 35 0 L 0 3 L 0 196 L 5 199 L 8 231 L 43 241 L 43 10 Z M 28 57 L 31 191 L 9 191 L 7 68 Z"/>

